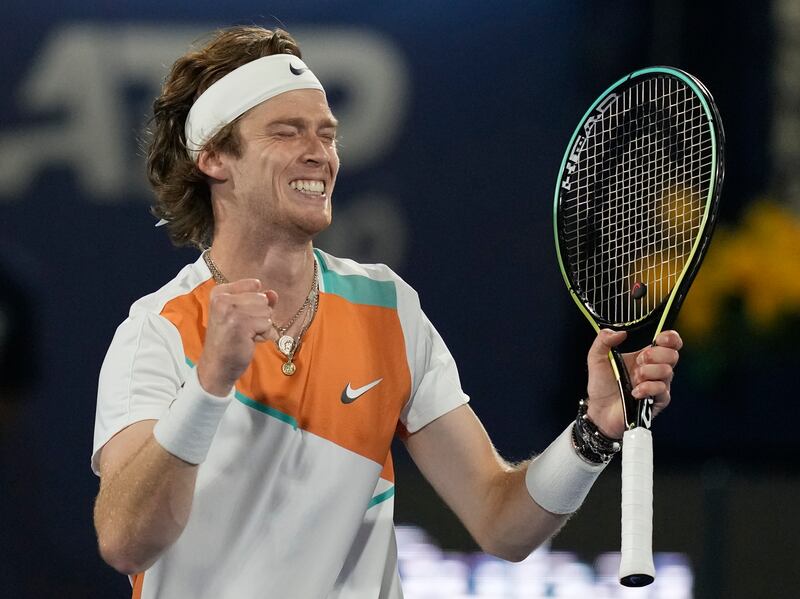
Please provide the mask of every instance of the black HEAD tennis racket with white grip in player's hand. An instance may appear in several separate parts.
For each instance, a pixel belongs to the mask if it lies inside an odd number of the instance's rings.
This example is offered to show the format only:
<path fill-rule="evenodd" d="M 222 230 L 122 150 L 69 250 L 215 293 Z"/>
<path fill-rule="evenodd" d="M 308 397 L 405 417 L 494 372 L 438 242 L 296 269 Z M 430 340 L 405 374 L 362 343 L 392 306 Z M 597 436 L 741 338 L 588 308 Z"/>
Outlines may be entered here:
<path fill-rule="evenodd" d="M 561 274 L 596 331 L 654 340 L 677 316 L 714 229 L 723 146 L 711 94 L 675 68 L 623 77 L 583 115 L 558 173 L 553 226 Z M 633 398 L 616 348 L 609 359 L 626 429 L 619 575 L 638 587 L 655 579 L 653 399 Z"/>

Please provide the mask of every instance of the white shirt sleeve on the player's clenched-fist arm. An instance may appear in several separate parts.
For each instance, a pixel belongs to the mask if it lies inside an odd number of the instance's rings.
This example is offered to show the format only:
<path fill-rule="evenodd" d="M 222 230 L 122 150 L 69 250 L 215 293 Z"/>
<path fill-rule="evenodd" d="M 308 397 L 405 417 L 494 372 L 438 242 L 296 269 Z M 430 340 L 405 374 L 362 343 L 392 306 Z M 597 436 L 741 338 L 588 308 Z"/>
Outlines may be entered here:
<path fill-rule="evenodd" d="M 141 420 L 158 420 L 175 399 L 188 368 L 183 344 L 165 318 L 143 313 L 125 320 L 100 369 L 92 470 L 99 474 L 103 446 Z"/>

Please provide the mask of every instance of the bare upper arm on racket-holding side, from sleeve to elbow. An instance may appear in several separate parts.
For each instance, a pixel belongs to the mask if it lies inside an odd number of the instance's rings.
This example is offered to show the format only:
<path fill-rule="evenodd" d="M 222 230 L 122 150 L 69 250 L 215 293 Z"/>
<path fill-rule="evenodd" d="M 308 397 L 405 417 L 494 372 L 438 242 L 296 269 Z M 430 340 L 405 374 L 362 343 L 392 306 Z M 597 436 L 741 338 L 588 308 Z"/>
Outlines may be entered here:
<path fill-rule="evenodd" d="M 480 543 L 513 468 L 497 453 L 468 405 L 437 418 L 405 440 L 436 492 Z"/>

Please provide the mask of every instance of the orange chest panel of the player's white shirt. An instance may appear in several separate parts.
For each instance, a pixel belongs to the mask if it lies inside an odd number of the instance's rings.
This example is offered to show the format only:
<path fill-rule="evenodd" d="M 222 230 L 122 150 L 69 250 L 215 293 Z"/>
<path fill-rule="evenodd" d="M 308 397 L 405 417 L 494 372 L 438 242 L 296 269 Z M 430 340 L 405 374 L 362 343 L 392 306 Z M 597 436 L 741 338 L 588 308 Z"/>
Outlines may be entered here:
<path fill-rule="evenodd" d="M 177 327 L 193 363 L 202 353 L 212 286 L 213 281 L 206 281 L 161 312 Z M 295 355 L 293 376 L 281 373 L 284 361 L 274 343 L 259 344 L 236 383 L 237 391 L 291 417 L 298 428 L 387 466 L 385 473 L 390 474 L 387 456 L 411 392 L 397 311 L 321 293 L 317 315 Z M 348 385 L 358 390 L 379 379 L 355 400 L 342 401 Z"/>

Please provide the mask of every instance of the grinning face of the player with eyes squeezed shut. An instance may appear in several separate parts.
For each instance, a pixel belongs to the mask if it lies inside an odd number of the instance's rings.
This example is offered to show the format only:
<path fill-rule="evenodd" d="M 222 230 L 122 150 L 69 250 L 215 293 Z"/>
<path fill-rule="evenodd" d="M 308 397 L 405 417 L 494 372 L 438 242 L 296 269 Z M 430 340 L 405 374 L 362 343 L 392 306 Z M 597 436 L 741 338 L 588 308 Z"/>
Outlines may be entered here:
<path fill-rule="evenodd" d="M 245 229 L 313 236 L 330 225 L 336 125 L 325 95 L 312 89 L 275 96 L 239 121 L 241 156 L 224 160 Z"/>

